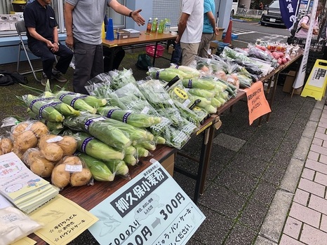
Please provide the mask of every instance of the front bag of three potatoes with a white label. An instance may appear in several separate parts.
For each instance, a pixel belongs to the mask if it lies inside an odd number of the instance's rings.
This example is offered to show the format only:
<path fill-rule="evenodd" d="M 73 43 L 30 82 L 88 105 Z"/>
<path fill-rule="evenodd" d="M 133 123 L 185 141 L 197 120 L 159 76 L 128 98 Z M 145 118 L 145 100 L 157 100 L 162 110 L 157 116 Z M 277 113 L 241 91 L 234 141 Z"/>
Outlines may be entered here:
<path fill-rule="evenodd" d="M 93 185 L 91 171 L 75 155 L 67 155 L 54 167 L 51 183 L 61 190 L 68 186 Z"/>

